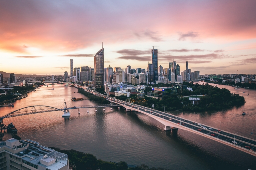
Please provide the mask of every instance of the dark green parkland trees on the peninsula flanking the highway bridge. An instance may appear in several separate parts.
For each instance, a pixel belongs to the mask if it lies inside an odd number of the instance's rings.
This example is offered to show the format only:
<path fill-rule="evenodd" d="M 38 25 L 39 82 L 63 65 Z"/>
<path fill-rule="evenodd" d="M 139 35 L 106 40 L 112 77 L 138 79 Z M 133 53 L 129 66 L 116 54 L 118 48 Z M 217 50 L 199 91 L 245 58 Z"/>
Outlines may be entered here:
<path fill-rule="evenodd" d="M 245 99 L 243 96 L 238 94 L 231 93 L 228 89 L 220 89 L 217 86 L 212 86 L 206 83 L 205 85 L 200 85 L 198 83 L 193 84 L 193 82 L 184 82 L 184 85 L 193 89 L 190 90 L 178 90 L 177 94 L 170 94 L 163 96 L 162 99 L 155 99 L 152 97 L 147 97 L 144 95 L 142 98 L 137 98 L 137 95 L 132 94 L 129 98 L 126 96 L 117 96 L 116 98 L 125 100 L 127 102 L 136 103 L 138 105 L 142 105 L 148 108 L 152 107 L 154 104 L 154 109 L 159 111 L 212 111 L 212 110 L 222 110 L 222 109 L 230 109 L 234 106 L 240 107 L 244 105 Z M 172 84 L 165 84 L 165 87 L 170 87 Z M 163 87 L 161 84 L 152 85 L 152 87 Z M 146 87 L 145 92 L 151 92 L 152 87 Z M 97 97 L 93 94 L 85 92 L 80 89 L 78 91 L 86 95 L 91 100 L 100 102 L 102 104 L 106 104 L 106 100 L 103 97 Z M 199 96 L 200 95 L 200 96 Z M 184 97 L 183 97 L 184 96 Z M 193 103 L 189 100 L 189 97 L 197 97 L 200 98 L 198 104 L 193 105 Z"/>

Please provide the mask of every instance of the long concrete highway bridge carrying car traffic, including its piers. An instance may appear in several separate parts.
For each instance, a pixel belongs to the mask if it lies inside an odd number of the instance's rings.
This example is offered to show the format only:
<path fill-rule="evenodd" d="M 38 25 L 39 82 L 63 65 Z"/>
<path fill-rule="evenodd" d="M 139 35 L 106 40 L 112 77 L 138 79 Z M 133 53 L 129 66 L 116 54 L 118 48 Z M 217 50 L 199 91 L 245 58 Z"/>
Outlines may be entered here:
<path fill-rule="evenodd" d="M 158 110 L 153 110 L 151 108 L 132 104 L 116 98 L 111 98 L 103 94 L 100 94 L 96 91 L 92 91 L 91 89 L 84 88 L 83 86 L 76 85 L 76 87 L 83 88 L 85 91 L 92 93 L 96 96 L 104 97 L 106 100 L 110 101 L 111 103 L 121 105 L 126 109 L 126 111 L 134 110 L 134 111 L 143 113 L 145 115 L 148 115 L 151 118 L 162 123 L 165 126 L 164 130 L 177 131 L 178 128 L 180 128 L 180 129 L 187 130 L 192 133 L 196 133 L 198 135 L 204 136 L 206 138 L 215 140 L 217 142 L 223 143 L 230 147 L 249 153 L 253 156 L 256 156 L 256 140 L 253 140 L 241 135 L 237 135 L 234 133 L 230 133 L 228 131 L 220 130 L 218 128 L 201 125 L 191 120 L 177 117 L 170 113 L 163 113 Z"/>

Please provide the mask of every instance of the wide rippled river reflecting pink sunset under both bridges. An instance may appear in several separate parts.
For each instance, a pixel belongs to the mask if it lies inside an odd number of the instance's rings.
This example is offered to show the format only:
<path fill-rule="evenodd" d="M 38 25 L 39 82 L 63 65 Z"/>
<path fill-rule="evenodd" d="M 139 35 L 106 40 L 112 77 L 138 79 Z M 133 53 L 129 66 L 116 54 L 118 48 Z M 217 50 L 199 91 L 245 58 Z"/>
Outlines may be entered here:
<path fill-rule="evenodd" d="M 215 84 L 214 84 L 215 85 Z M 251 129 L 256 132 L 256 90 L 217 85 L 231 92 L 238 91 L 245 96 L 244 111 L 233 108 L 211 112 L 180 112 L 180 116 L 201 124 L 219 127 L 246 137 L 251 137 Z M 55 90 L 50 90 L 55 88 Z M 0 108 L 0 116 L 14 110 L 33 105 L 60 108 L 64 100 L 69 106 L 100 104 L 90 100 L 70 100 L 78 89 L 64 85 L 49 85 L 29 93 L 27 98 L 13 102 L 12 107 Z M 246 92 L 246 93 L 242 93 Z M 246 94 L 249 92 L 249 96 Z M 69 119 L 61 117 L 63 112 L 48 112 L 4 119 L 8 125 L 13 122 L 22 139 L 32 139 L 45 146 L 61 149 L 75 149 L 94 154 L 105 161 L 125 161 L 127 164 L 163 167 L 169 169 L 214 170 L 214 169 L 256 169 L 256 157 L 207 139 L 203 136 L 179 129 L 178 132 L 164 131 L 164 126 L 144 114 L 125 112 L 124 109 L 94 108 L 70 110 Z M 178 115 L 178 111 L 171 112 Z M 256 136 L 253 136 L 256 138 Z M 11 138 L 5 133 L 3 140 Z"/>

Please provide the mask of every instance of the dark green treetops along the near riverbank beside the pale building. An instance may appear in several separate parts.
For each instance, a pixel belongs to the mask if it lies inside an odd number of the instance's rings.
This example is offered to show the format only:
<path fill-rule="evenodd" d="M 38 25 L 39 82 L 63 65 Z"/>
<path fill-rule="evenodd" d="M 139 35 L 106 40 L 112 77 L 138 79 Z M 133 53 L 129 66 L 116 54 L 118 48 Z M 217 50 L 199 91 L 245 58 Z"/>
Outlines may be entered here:
<path fill-rule="evenodd" d="M 127 165 L 126 162 L 120 161 L 119 163 L 107 162 L 97 159 L 96 156 L 90 153 L 84 153 L 77 150 L 61 150 L 56 147 L 49 147 L 58 152 L 68 155 L 69 164 L 76 165 L 77 170 L 90 169 L 90 170 L 168 170 L 165 168 L 154 168 L 144 164 L 139 166 Z"/>

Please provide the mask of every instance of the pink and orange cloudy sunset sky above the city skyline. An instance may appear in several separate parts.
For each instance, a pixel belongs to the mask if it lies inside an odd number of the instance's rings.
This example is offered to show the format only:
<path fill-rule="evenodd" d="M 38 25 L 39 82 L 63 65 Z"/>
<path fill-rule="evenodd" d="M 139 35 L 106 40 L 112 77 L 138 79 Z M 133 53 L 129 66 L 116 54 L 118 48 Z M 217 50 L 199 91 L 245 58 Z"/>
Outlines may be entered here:
<path fill-rule="evenodd" d="M 105 67 L 147 68 L 174 60 L 200 74 L 256 74 L 255 0 L 2 0 L 0 71 L 64 74 Z"/>

